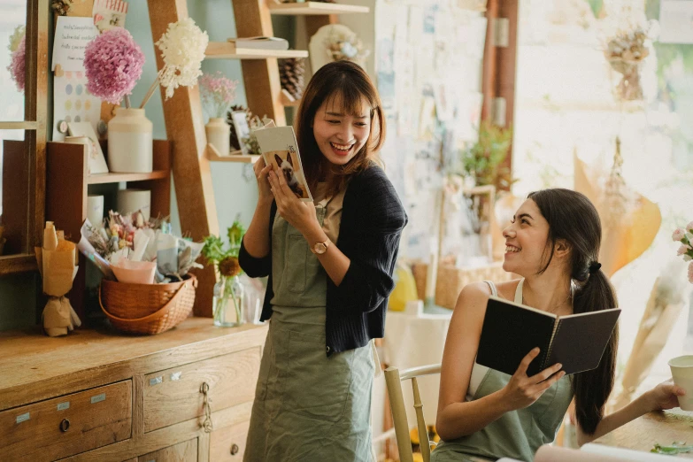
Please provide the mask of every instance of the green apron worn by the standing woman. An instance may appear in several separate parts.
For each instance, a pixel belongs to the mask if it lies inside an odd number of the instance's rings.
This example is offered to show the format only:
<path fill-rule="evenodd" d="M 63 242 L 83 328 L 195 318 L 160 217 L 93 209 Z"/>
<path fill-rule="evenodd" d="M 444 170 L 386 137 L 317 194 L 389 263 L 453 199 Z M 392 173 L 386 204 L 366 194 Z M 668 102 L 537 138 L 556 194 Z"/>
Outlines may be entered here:
<path fill-rule="evenodd" d="M 327 200 L 316 204 L 321 226 L 326 207 Z M 272 271 L 273 314 L 243 460 L 372 462 L 371 346 L 327 358 L 327 273 L 279 214 Z"/>

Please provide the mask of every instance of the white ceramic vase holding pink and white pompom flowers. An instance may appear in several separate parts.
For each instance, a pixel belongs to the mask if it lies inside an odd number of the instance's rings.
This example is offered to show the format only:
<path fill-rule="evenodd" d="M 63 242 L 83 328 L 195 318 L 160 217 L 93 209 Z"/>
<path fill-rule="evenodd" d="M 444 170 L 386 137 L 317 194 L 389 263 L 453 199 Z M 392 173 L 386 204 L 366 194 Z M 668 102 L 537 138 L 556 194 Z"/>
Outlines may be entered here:
<path fill-rule="evenodd" d="M 152 124 L 143 109 L 116 108 L 108 122 L 108 169 L 118 173 L 151 173 Z"/>

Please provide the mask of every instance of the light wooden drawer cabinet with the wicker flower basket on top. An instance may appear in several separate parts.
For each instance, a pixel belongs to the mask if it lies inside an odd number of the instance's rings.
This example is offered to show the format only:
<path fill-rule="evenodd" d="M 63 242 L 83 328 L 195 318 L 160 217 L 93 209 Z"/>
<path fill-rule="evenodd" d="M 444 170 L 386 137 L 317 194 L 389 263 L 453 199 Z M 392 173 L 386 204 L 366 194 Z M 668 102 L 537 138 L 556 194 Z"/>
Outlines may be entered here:
<path fill-rule="evenodd" d="M 0 459 L 242 460 L 265 337 L 207 318 L 159 335 L 2 332 Z"/>

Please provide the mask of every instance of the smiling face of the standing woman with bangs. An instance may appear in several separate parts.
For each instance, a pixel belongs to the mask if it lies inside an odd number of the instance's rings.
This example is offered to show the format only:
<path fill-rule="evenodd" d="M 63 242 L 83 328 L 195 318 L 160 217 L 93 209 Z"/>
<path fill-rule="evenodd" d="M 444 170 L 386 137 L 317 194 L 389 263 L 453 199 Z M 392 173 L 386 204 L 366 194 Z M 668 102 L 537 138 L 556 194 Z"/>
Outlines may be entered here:
<path fill-rule="evenodd" d="M 348 113 L 342 96 L 328 97 L 315 113 L 312 131 L 320 152 L 335 166 L 343 166 L 356 156 L 371 135 L 371 107 L 361 98 L 358 111 Z"/>

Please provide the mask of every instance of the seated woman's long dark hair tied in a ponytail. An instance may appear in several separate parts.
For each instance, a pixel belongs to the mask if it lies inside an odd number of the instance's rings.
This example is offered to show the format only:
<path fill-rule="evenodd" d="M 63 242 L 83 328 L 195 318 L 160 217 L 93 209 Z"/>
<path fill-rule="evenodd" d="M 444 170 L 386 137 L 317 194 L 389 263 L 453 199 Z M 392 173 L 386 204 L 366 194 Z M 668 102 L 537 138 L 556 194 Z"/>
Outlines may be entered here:
<path fill-rule="evenodd" d="M 576 287 L 573 312 L 596 312 L 618 304 L 611 282 L 598 267 L 597 257 L 602 240 L 602 224 L 595 206 L 579 192 L 570 189 L 543 189 L 529 194 L 543 217 L 549 222 L 546 243 L 546 268 L 553 258 L 555 243 L 570 245 L 570 277 Z M 591 266 L 591 272 L 590 272 Z M 604 356 L 597 369 L 576 373 L 573 377 L 575 417 L 583 431 L 594 434 L 604 417 L 604 404 L 613 389 L 619 326 L 614 327 Z"/>

